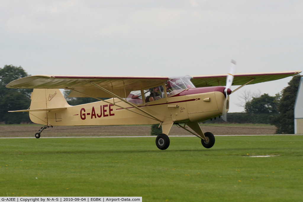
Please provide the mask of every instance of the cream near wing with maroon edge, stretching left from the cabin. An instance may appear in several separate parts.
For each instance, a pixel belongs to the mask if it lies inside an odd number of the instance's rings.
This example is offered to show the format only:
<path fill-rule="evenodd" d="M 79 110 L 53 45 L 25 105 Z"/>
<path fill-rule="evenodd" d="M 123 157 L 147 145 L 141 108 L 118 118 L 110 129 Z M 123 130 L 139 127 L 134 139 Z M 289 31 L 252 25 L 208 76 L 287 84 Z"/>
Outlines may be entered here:
<path fill-rule="evenodd" d="M 125 97 L 131 92 L 162 85 L 169 78 L 165 76 L 74 76 L 74 75 L 34 75 L 20 78 L 7 84 L 7 88 L 69 88 L 72 91 L 68 97 L 112 98 L 111 94 L 92 85 L 93 82 L 102 88 Z M 81 93 L 79 93 L 79 92 Z M 85 96 L 84 94 L 89 96 Z"/>

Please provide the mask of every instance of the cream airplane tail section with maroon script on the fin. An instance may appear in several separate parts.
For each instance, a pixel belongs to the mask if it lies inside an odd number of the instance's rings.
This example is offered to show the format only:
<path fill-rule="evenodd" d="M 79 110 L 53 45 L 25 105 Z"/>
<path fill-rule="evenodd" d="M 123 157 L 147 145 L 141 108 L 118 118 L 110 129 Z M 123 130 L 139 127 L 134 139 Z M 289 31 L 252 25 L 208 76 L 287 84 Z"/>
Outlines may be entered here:
<path fill-rule="evenodd" d="M 30 108 L 21 111 L 28 111 L 31 121 L 37 124 L 50 125 L 50 122 L 61 121 L 58 112 L 70 106 L 59 89 L 34 89 L 31 100 Z"/>

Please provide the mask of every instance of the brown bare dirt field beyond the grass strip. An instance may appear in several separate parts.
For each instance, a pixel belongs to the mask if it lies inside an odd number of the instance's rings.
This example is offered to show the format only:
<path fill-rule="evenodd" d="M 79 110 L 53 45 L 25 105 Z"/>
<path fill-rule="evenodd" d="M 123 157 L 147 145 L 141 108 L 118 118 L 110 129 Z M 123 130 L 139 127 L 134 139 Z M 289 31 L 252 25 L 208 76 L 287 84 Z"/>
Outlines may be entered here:
<path fill-rule="evenodd" d="M 0 125 L 0 137 L 34 137 L 42 125 Z M 275 134 L 276 127 L 265 124 L 201 124 L 203 132 L 214 135 Z M 150 125 L 131 126 L 57 126 L 47 128 L 41 137 L 149 136 Z M 169 135 L 192 135 L 173 125 Z"/>

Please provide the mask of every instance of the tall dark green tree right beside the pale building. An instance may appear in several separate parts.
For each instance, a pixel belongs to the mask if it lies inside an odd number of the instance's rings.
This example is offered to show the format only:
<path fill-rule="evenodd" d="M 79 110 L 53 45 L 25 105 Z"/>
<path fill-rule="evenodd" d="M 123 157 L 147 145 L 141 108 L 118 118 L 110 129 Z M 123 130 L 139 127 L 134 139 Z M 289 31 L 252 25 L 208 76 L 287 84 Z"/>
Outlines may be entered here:
<path fill-rule="evenodd" d="M 288 86 L 281 92 L 278 105 L 279 114 L 271 119 L 271 124 L 277 127 L 276 134 L 294 134 L 294 106 L 301 75 L 294 76 Z"/>

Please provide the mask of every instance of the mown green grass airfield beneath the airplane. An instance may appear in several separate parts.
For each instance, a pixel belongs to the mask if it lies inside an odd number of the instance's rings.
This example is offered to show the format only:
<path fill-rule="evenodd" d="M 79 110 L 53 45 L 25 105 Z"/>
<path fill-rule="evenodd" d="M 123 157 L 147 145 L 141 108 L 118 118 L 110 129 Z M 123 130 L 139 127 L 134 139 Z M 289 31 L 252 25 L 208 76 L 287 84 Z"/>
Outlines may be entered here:
<path fill-rule="evenodd" d="M 170 140 L 161 151 L 155 137 L 1 139 L 0 196 L 303 199 L 303 136 L 216 137 L 211 149 L 197 137 Z"/>

